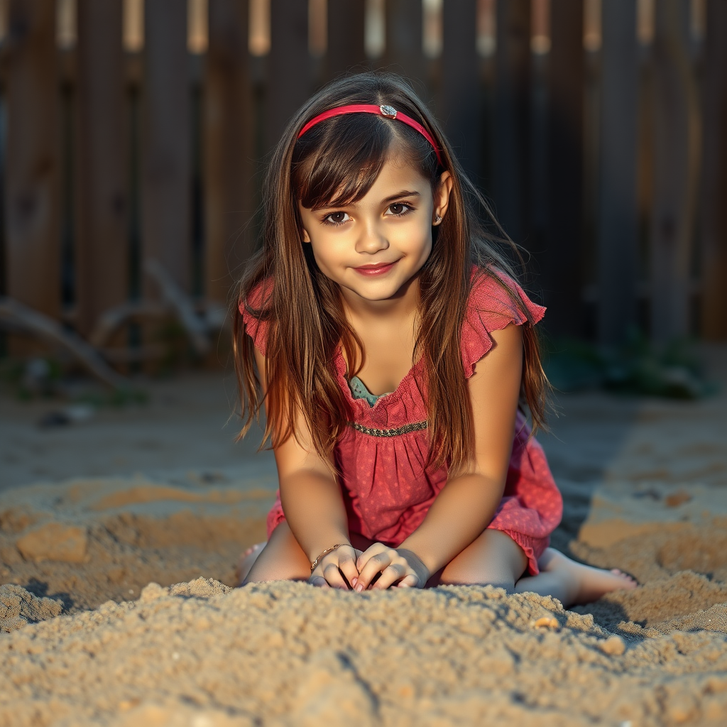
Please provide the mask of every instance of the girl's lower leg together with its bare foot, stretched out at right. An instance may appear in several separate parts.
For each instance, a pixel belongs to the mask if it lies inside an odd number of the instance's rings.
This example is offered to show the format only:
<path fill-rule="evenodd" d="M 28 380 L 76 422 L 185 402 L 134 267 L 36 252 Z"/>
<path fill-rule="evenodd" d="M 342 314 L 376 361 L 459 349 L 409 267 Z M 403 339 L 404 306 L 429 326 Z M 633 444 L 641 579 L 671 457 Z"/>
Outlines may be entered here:
<path fill-rule="evenodd" d="M 606 593 L 631 590 L 638 585 L 632 577 L 619 570 L 605 571 L 576 563 L 551 547 L 546 548 L 538 559 L 538 567 L 540 573 L 518 580 L 515 591 L 552 595 L 566 608 L 598 601 Z"/>

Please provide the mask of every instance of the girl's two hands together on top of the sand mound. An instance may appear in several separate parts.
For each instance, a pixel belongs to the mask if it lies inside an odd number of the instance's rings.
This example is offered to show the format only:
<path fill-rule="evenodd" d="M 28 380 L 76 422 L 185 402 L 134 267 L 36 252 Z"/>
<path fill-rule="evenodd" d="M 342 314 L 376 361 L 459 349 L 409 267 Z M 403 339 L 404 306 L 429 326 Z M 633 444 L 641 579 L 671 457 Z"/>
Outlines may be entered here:
<path fill-rule="evenodd" d="M 374 543 L 364 552 L 341 545 L 321 558 L 308 582 L 322 588 L 385 590 L 423 588 L 430 573 L 411 550 Z"/>

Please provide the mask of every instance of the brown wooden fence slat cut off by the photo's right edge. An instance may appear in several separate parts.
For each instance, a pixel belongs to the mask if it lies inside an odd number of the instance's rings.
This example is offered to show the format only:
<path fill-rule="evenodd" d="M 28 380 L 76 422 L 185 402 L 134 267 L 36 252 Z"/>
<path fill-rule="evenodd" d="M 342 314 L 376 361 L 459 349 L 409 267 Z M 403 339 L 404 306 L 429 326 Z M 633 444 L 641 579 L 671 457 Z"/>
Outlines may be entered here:
<path fill-rule="evenodd" d="M 727 340 L 727 3 L 709 0 L 704 53 L 702 333 Z"/>

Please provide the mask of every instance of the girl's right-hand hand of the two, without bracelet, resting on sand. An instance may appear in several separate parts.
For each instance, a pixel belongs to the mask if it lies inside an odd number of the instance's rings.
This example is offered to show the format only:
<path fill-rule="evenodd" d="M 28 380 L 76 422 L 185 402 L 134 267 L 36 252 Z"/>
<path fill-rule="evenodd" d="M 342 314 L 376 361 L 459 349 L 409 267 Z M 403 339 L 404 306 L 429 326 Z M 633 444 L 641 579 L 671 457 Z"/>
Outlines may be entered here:
<path fill-rule="evenodd" d="M 356 562 L 358 578 L 352 583 L 354 589 L 366 588 L 384 590 L 391 585 L 399 588 L 423 588 L 427 585 L 430 572 L 416 553 L 405 548 L 393 548 L 383 543 L 374 543 Z M 379 575 L 374 585 L 371 581 Z"/>

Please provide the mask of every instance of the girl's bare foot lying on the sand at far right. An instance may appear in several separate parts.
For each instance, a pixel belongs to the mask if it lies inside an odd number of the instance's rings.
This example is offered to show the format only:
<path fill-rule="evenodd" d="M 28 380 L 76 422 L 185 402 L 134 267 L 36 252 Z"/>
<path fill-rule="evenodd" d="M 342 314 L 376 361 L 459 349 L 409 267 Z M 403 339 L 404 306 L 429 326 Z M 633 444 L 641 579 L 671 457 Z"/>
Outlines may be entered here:
<path fill-rule="evenodd" d="M 606 571 L 585 566 L 550 547 L 539 558 L 538 565 L 542 572 L 563 578 L 569 596 L 569 603 L 563 603 L 566 607 L 592 603 L 611 591 L 632 590 L 638 586 L 635 579 L 617 568 Z"/>

